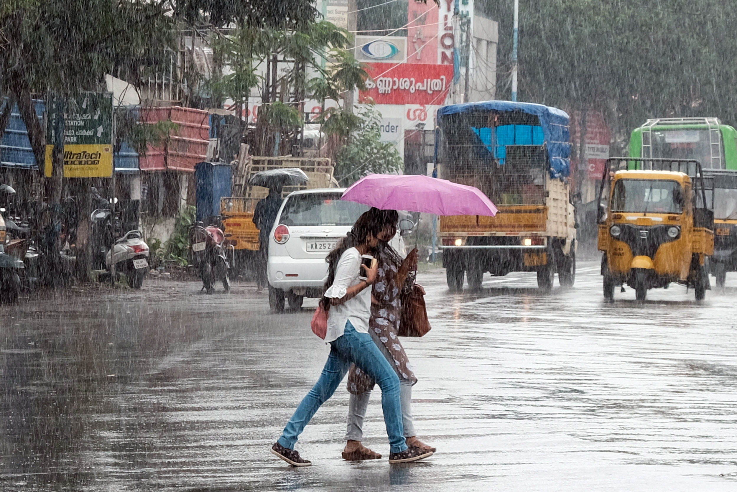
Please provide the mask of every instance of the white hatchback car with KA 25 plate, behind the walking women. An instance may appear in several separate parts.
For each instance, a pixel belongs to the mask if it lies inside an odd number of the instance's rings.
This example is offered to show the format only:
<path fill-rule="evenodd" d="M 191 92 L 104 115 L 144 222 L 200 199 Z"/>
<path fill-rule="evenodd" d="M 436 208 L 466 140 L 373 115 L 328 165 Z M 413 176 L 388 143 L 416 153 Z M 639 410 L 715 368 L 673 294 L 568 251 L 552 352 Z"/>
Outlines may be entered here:
<path fill-rule="evenodd" d="M 284 300 L 291 309 L 299 309 L 305 297 L 322 297 L 327 253 L 368 210 L 368 205 L 340 200 L 343 191 L 346 189 L 294 191 L 284 199 L 269 235 L 267 275 L 272 312 L 284 311 Z M 399 231 L 390 244 L 404 254 Z"/>

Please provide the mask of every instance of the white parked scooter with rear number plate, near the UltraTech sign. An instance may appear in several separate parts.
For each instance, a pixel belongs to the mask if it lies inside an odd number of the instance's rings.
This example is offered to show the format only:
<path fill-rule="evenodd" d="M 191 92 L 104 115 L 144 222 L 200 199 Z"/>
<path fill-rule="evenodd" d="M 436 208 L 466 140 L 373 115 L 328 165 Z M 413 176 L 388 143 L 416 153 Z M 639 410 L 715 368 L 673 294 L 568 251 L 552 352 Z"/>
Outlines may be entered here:
<path fill-rule="evenodd" d="M 99 231 L 107 231 L 111 237 L 118 236 L 119 217 L 112 214 L 112 211 L 104 208 L 98 208 L 90 217 L 95 228 Z M 108 234 L 105 234 L 108 237 Z M 140 231 L 128 231 L 113 243 L 112 249 L 108 249 L 109 242 L 102 245 L 105 253 L 105 270 L 111 273 L 114 267 L 116 277 L 125 273 L 128 278 L 128 285 L 133 289 L 140 289 L 143 285 L 143 279 L 148 271 L 149 247 L 144 242 Z"/>

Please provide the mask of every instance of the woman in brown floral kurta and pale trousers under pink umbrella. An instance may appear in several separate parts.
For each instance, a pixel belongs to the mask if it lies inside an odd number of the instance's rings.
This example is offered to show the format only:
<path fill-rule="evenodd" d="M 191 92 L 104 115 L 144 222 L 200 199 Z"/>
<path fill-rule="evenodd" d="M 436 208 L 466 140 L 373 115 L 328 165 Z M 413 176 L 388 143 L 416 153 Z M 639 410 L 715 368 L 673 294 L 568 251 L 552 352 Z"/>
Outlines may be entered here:
<path fill-rule="evenodd" d="M 377 280 L 371 292 L 371 318 L 368 321 L 368 331 L 374 342 L 382 350 L 399 376 L 402 392 L 402 423 L 405 428 L 408 446 L 419 446 L 427 450 L 434 448 L 420 442 L 415 436 L 411 413 L 412 386 L 417 382 L 402 342 L 399 341 L 399 321 L 402 317 L 402 295 L 408 294 L 414 287 L 417 253 L 413 250 L 402 259 L 388 241 L 397 232 L 397 212 L 377 211 L 385 215 L 387 227 L 383 232 L 382 245 L 377 252 L 379 270 Z M 392 212 L 394 212 L 392 214 Z M 351 393 L 346 439 L 348 444 L 343 451 L 346 460 L 370 460 L 380 458 L 381 455 L 371 451 L 360 443 L 363 437 L 363 418 L 366 415 L 368 397 L 374 388 L 374 380 L 363 373 L 355 365 L 348 375 L 348 390 Z"/>

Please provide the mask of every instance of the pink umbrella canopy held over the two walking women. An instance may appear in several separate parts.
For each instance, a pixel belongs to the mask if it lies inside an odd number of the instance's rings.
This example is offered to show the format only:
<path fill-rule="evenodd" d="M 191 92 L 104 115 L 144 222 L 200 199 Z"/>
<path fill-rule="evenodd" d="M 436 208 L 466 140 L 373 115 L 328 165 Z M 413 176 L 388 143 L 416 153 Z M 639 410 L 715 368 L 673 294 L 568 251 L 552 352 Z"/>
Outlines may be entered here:
<path fill-rule="evenodd" d="M 423 175 L 368 175 L 353 183 L 340 200 L 384 210 L 436 215 L 490 215 L 497 208 L 480 189 Z"/>

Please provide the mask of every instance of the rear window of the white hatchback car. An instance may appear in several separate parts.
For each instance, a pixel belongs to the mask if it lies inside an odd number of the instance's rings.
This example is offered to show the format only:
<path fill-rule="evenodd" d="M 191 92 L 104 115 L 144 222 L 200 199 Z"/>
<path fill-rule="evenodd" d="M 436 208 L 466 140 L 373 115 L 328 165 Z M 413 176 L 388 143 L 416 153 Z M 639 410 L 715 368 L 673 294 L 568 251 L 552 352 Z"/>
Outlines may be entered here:
<path fill-rule="evenodd" d="M 367 205 L 346 202 L 340 193 L 305 193 L 287 198 L 279 223 L 284 225 L 353 225 Z"/>

